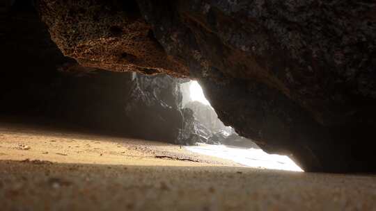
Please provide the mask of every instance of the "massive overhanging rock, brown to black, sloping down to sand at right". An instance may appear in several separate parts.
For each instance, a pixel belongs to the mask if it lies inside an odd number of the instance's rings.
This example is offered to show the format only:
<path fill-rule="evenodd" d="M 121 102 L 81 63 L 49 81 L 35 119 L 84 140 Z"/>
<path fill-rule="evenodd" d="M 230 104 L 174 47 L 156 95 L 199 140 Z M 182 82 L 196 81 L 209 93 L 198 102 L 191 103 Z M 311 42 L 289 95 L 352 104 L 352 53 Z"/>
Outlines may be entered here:
<path fill-rule="evenodd" d="M 224 124 L 265 151 L 306 171 L 376 171 L 375 4 L 39 2 L 53 40 L 82 65 L 196 78 Z M 99 19 L 90 8 L 103 8 Z"/>

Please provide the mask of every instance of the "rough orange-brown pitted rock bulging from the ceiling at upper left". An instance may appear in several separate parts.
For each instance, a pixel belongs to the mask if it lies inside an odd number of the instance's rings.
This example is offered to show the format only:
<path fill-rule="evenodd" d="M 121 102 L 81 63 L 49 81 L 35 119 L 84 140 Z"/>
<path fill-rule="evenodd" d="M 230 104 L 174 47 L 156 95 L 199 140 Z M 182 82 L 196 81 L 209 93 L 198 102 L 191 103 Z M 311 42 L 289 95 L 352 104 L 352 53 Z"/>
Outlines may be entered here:
<path fill-rule="evenodd" d="M 52 40 L 81 65 L 144 74 L 187 74 L 166 55 L 136 1 L 36 1 Z"/>

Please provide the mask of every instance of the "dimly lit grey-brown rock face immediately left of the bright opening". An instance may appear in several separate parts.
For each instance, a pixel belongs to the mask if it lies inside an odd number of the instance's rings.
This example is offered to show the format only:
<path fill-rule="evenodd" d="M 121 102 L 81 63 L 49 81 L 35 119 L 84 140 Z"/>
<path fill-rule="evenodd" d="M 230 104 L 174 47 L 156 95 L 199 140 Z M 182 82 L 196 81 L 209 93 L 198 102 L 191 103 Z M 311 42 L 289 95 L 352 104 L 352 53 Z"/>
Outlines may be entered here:
<path fill-rule="evenodd" d="M 125 105 L 125 125 L 147 140 L 180 142 L 183 116 L 180 108 L 180 80 L 171 76 L 135 74 Z M 118 111 L 118 115 L 121 115 Z M 189 133 L 189 132 L 188 132 Z"/>

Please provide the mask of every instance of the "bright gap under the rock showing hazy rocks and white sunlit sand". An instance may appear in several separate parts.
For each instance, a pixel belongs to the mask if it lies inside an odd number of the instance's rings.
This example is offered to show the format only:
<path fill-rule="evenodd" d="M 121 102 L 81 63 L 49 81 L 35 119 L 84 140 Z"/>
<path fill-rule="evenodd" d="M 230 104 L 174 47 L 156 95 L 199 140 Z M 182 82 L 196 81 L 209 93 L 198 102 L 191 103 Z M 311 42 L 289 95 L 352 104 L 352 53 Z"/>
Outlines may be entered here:
<path fill-rule="evenodd" d="M 194 124 L 197 124 L 191 133 L 205 136 L 205 133 L 201 133 L 205 129 L 212 133 L 208 137 L 201 137 L 199 139 L 201 142 L 196 142 L 193 146 L 185 146 L 186 149 L 194 153 L 233 160 L 248 167 L 303 171 L 288 156 L 268 154 L 252 140 L 241 137 L 233 128 L 225 126 L 205 98 L 197 81 L 182 83 L 180 88 L 182 90 L 182 108 L 193 111 Z"/>

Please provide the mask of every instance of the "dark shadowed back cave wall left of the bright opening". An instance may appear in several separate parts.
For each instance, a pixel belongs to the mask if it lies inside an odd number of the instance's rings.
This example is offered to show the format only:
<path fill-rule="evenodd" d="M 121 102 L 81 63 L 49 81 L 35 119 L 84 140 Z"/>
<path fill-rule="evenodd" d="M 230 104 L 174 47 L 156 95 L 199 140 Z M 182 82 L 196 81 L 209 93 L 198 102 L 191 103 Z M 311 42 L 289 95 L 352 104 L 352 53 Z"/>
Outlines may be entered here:
<path fill-rule="evenodd" d="M 51 40 L 33 1 L 6 14 L 0 118 L 176 143 L 182 129 L 180 83 L 164 74 L 84 67 Z"/>

